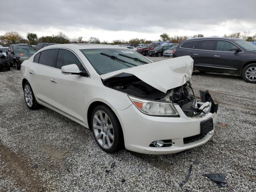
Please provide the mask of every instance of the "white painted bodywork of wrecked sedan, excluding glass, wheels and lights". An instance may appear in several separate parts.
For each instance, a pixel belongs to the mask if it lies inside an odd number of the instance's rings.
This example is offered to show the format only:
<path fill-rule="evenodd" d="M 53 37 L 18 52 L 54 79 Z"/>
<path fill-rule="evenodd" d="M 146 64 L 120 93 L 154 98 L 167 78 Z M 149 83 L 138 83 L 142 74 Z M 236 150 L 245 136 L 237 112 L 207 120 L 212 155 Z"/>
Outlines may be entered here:
<path fill-rule="evenodd" d="M 202 118 L 189 118 L 179 106 L 175 105 L 180 117 L 148 116 L 132 104 L 127 94 L 108 88 L 102 83 L 102 79 L 125 72 L 134 74 L 158 90 L 166 92 L 171 88 L 181 86 L 191 77 L 193 60 L 189 56 L 136 66 L 100 76 L 79 49 L 123 49 L 124 47 L 57 44 L 42 48 L 38 52 L 50 48 L 72 50 L 80 58 L 90 77 L 62 74 L 60 69 L 34 63 L 34 56 L 32 56 L 22 63 L 21 75 L 22 80 L 28 80 L 32 86 L 38 103 L 88 128 L 87 112 L 90 104 L 97 101 L 103 102 L 112 108 L 120 121 L 126 149 L 140 153 L 175 153 L 202 145 L 212 136 L 208 133 L 199 141 L 183 144 L 184 137 L 200 133 L 202 120 L 212 117 L 215 124 L 217 117 L 215 113 L 208 113 Z M 164 148 L 149 147 L 151 142 L 164 139 L 172 139 L 175 144 Z"/>

